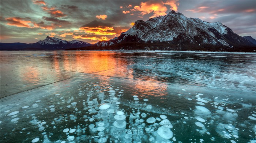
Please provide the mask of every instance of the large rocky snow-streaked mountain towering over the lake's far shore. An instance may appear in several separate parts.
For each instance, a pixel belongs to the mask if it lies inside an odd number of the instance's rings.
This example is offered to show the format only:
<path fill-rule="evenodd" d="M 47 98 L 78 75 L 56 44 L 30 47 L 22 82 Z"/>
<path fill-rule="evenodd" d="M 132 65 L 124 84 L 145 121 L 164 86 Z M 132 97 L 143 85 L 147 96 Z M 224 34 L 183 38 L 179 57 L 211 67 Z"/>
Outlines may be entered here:
<path fill-rule="evenodd" d="M 204 51 L 254 46 L 220 22 L 209 23 L 198 18 L 188 18 L 174 11 L 147 21 L 138 20 L 131 29 L 121 33 L 119 37 L 109 41 L 99 41 L 95 45 L 106 47 L 115 44 L 127 45 L 127 43 L 133 45 L 137 43 L 140 46 L 145 44 L 149 49 L 150 47 L 155 49 L 160 45 L 165 49 L 189 50 L 190 47 L 196 47 L 199 50 L 203 48 Z"/>

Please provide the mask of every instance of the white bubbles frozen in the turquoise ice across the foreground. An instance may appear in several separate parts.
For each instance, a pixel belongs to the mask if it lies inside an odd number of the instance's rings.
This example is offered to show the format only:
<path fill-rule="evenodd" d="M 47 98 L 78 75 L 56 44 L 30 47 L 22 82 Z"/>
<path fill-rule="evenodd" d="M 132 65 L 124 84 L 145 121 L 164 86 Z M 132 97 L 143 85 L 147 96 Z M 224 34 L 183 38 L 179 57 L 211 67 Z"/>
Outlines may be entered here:
<path fill-rule="evenodd" d="M 92 86 L 93 85 L 93 86 Z M 82 86 L 79 87 L 78 97 L 87 99 L 82 100 L 83 109 L 79 111 L 79 101 L 74 102 L 74 96 L 65 99 L 61 94 L 53 95 L 53 98 L 61 99 L 61 102 L 68 103 L 67 106 L 60 107 L 62 110 L 72 109 L 74 114 L 60 115 L 59 118 L 54 118 L 54 121 L 49 123 L 48 121 L 40 121 L 36 114 L 31 114 L 30 124 L 35 126 L 38 131 L 42 132 L 42 136 L 34 136 L 31 139 L 32 143 L 43 142 L 43 143 L 79 143 L 79 142 L 97 142 L 97 143 L 140 143 L 140 142 L 152 142 L 152 143 L 181 143 L 175 136 L 175 129 L 173 129 L 174 122 L 170 121 L 171 116 L 161 115 L 151 116 L 150 111 L 153 110 L 153 106 L 147 104 L 148 99 L 143 99 L 140 101 L 139 95 L 133 95 L 133 102 L 128 108 L 121 108 L 121 99 L 124 96 L 124 90 L 120 90 L 119 86 L 114 89 L 112 85 L 105 85 L 103 87 L 99 86 L 98 83 L 90 83 L 85 86 L 86 88 L 82 90 Z M 90 88 L 89 88 L 90 87 Z M 88 91 L 88 92 L 85 92 Z M 185 92 L 186 90 L 182 90 Z M 87 95 L 86 95 L 87 93 Z M 210 101 L 210 99 L 203 98 L 203 94 L 197 94 L 195 99 L 187 98 L 189 101 L 194 101 L 196 104 L 194 115 L 188 116 L 184 112 L 181 112 L 182 121 L 181 123 L 187 124 L 185 120 L 194 120 L 194 126 L 197 132 L 201 135 L 207 134 L 211 135 L 208 131 L 209 124 L 214 122 L 214 119 L 224 118 L 226 123 L 218 123 L 216 127 L 216 132 L 219 136 L 225 139 L 230 139 L 231 143 L 238 142 L 240 130 L 231 122 L 237 118 L 237 111 L 225 107 L 225 103 L 218 103 L 215 101 Z M 97 98 L 95 98 L 97 97 Z M 217 100 L 218 97 L 215 97 Z M 30 106 L 23 106 L 23 110 L 30 108 L 37 108 L 40 106 L 41 100 L 35 101 L 35 103 Z M 50 105 L 45 108 L 45 111 L 50 111 L 52 113 L 56 112 L 56 105 Z M 143 102 L 141 104 L 140 102 Z M 211 102 L 216 110 L 216 115 L 204 107 L 205 104 Z M 4 111 L 5 113 L 10 112 L 10 110 Z M 42 112 L 42 111 L 41 111 Z M 256 112 L 248 118 L 251 120 L 256 120 Z M 17 117 L 19 111 L 13 111 L 7 116 L 11 116 L 11 122 L 18 123 L 19 117 Z M 68 118 L 76 122 L 76 120 L 81 120 L 78 114 L 83 114 L 83 120 L 85 126 L 82 124 L 77 124 L 73 128 L 63 127 L 60 128 L 57 124 L 61 122 L 68 122 Z M 29 118 L 27 116 L 27 118 Z M 178 121 L 180 122 L 180 121 Z M 175 123 L 178 123 L 175 122 Z M 1 123 L 1 122 L 0 122 Z M 52 126 L 51 126 L 52 125 Z M 63 134 L 59 140 L 50 141 L 49 134 L 46 132 L 46 128 L 52 127 L 53 130 L 59 130 Z M 191 125 L 192 126 L 192 125 Z M 199 128 L 199 129 L 198 129 Z M 23 128 L 26 130 L 26 128 Z M 23 130 L 22 129 L 22 130 Z M 256 135 L 256 125 L 253 126 L 253 131 Z M 174 133 L 173 133 L 174 132 Z M 30 132 L 27 133 L 28 135 Z M 179 138 L 179 137 L 178 137 Z M 192 139 L 191 139 L 192 140 Z M 214 141 L 214 137 L 211 138 Z M 253 138 L 250 140 L 251 143 L 255 142 Z M 204 139 L 199 139 L 200 143 L 204 142 Z"/>

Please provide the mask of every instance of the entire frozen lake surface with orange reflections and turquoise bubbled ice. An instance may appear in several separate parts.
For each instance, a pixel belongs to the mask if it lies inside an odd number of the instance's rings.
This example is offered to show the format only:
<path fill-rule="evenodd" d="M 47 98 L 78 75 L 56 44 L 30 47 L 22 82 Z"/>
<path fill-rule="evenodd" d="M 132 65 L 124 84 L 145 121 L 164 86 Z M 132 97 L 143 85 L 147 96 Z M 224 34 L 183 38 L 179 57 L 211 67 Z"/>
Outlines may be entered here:
<path fill-rule="evenodd" d="M 0 67 L 1 143 L 256 142 L 255 53 L 0 51 Z"/>

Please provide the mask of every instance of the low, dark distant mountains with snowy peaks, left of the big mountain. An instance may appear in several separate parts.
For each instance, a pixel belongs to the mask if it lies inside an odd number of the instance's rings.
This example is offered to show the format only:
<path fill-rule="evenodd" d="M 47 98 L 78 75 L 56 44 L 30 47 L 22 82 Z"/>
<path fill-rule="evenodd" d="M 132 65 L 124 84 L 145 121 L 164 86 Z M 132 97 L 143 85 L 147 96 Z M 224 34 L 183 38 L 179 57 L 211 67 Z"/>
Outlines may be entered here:
<path fill-rule="evenodd" d="M 0 50 L 65 50 L 68 48 L 80 48 L 91 46 L 92 44 L 79 40 L 61 40 L 56 37 L 47 36 L 37 43 L 0 43 Z"/>

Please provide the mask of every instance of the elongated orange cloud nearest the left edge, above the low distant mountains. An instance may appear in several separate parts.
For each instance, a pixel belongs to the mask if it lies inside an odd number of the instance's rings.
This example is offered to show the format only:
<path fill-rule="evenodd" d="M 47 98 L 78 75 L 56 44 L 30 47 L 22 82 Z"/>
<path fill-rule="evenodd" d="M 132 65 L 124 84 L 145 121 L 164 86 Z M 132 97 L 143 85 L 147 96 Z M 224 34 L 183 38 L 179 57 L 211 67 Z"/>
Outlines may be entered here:
<path fill-rule="evenodd" d="M 33 23 L 31 21 L 23 20 L 20 17 L 9 17 L 5 19 L 8 21 L 7 25 L 12 25 L 16 27 L 27 27 L 27 28 L 34 28 Z"/>

